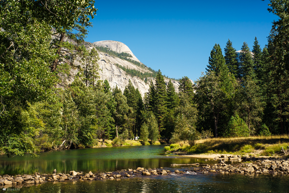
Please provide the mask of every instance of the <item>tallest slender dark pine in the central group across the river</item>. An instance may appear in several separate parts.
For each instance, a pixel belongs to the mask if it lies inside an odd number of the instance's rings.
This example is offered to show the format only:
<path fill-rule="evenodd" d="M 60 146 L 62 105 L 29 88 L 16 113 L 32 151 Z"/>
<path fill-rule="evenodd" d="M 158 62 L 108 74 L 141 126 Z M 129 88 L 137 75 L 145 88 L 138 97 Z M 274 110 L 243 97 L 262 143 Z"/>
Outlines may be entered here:
<path fill-rule="evenodd" d="M 166 84 L 164 82 L 164 76 L 162 76 L 159 70 L 155 80 L 155 115 L 158 120 L 159 132 L 163 126 L 164 115 L 167 112 L 166 100 Z"/>

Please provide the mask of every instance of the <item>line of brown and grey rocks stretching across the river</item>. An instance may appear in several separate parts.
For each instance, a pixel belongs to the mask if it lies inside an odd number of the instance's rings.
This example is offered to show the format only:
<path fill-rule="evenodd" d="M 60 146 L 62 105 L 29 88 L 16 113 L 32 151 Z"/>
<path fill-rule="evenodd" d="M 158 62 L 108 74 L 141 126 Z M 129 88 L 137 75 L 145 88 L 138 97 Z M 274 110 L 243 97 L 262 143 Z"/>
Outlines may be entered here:
<path fill-rule="evenodd" d="M 218 157 L 215 157 L 218 158 Z M 229 159 L 231 158 L 231 159 Z M 205 174 L 205 173 L 240 173 L 240 174 L 289 174 L 289 159 L 260 159 L 253 157 L 227 157 L 222 155 L 218 158 L 219 161 L 216 164 L 184 164 L 186 168 L 178 168 L 175 170 L 165 170 L 163 168 L 136 168 L 114 171 L 114 172 L 75 172 L 70 171 L 69 174 L 57 173 L 56 170 L 53 174 L 39 174 L 35 172 L 33 175 L 16 175 L 9 176 L 4 174 L 0 176 L 0 188 L 22 188 L 23 186 L 39 185 L 45 182 L 64 182 L 64 181 L 84 181 L 84 180 L 114 180 L 120 178 L 130 177 L 153 177 L 157 175 L 187 175 L 187 174 Z M 247 160 L 241 162 L 241 160 Z M 234 164 L 232 161 L 238 161 Z M 210 161 L 210 160 L 209 160 Z M 231 162 L 230 164 L 228 162 Z M 191 168 L 188 168 L 192 165 Z M 179 166 L 172 164 L 171 168 Z"/>

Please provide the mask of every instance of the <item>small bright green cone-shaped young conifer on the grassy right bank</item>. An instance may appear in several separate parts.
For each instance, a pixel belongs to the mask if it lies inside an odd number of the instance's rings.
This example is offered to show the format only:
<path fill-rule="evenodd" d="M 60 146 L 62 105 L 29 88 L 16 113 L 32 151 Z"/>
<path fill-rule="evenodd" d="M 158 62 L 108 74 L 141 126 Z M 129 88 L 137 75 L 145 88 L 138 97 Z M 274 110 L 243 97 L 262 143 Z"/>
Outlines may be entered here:
<path fill-rule="evenodd" d="M 238 114 L 232 116 L 229 124 L 227 135 L 230 137 L 249 137 L 250 131 L 247 124 Z"/>

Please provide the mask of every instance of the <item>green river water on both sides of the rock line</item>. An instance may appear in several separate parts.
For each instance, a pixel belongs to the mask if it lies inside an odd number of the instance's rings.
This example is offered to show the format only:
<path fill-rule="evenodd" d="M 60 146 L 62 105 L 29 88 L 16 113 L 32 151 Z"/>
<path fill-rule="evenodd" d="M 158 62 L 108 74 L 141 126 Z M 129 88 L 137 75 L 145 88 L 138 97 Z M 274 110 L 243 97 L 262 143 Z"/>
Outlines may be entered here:
<path fill-rule="evenodd" d="M 44 152 L 37 159 L 23 157 L 0 157 L 1 174 L 31 174 L 34 172 L 67 173 L 75 171 L 115 171 L 127 168 L 160 168 L 174 170 L 170 164 L 216 163 L 204 159 L 166 156 L 163 146 L 133 146 L 95 148 Z M 192 169 L 178 166 L 179 170 Z M 9 192 L 82 193 L 82 192 L 289 192 L 289 176 L 272 174 L 200 174 L 188 172 L 183 175 L 152 176 L 137 178 L 105 179 L 99 181 L 47 182 L 40 185 L 20 187 Z M 7 192 L 0 190 L 0 192 Z"/>

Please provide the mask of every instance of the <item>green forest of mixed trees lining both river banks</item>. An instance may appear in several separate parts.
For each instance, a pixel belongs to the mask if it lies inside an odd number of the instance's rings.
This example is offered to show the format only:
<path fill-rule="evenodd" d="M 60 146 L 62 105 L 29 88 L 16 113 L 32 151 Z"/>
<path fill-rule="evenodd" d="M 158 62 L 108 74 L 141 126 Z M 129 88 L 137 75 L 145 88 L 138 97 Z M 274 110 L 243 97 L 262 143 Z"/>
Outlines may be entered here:
<path fill-rule="evenodd" d="M 144 97 L 131 80 L 122 92 L 99 79 L 98 52 L 83 44 L 86 27 L 92 25 L 89 19 L 97 11 L 94 3 L 0 1 L 3 153 L 36 156 L 43 150 L 91 147 L 97 139 L 121 145 L 136 136 L 143 144 L 162 138 L 193 146 L 213 134 L 289 133 L 288 1 L 271 1 L 269 11 L 280 19 L 273 22 L 264 48 L 257 38 L 251 49 L 244 42 L 238 61 L 230 40 L 224 55 L 215 44 L 206 72 L 194 84 L 183 77 L 177 93 L 159 70 L 153 72 L 155 84 L 148 82 Z M 71 78 L 73 69 L 78 70 L 74 81 L 64 84 L 62 78 Z M 64 89 L 57 88 L 59 83 Z"/>

